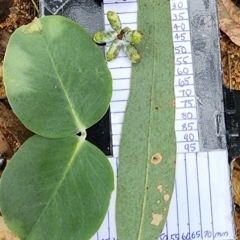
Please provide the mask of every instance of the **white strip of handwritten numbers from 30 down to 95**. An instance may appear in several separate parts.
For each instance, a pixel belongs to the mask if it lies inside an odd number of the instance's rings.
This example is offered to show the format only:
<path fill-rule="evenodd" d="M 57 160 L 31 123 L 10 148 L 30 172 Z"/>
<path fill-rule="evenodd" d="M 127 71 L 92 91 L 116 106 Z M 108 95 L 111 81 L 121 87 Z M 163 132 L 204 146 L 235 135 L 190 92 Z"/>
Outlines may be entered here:
<path fill-rule="evenodd" d="M 178 153 L 198 152 L 190 29 L 186 0 L 171 2 L 175 54 L 176 137 Z"/>

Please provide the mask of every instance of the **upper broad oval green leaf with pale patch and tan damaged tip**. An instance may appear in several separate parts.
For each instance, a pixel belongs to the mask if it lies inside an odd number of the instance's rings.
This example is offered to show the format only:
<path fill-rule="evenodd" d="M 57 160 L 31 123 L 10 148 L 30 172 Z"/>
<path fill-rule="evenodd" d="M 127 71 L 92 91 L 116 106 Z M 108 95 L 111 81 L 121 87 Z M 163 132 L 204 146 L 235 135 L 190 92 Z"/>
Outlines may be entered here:
<path fill-rule="evenodd" d="M 38 135 L 76 134 L 108 109 L 112 78 L 104 55 L 80 25 L 62 16 L 17 29 L 3 70 L 14 112 Z"/>

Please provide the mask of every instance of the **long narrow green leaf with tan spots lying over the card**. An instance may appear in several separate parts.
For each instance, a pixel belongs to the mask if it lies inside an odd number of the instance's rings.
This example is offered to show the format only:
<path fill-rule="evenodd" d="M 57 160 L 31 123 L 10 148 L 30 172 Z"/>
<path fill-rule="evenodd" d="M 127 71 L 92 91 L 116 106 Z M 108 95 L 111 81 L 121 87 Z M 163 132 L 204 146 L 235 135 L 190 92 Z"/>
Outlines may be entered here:
<path fill-rule="evenodd" d="M 141 63 L 132 66 L 117 187 L 119 240 L 153 240 L 168 214 L 175 178 L 174 52 L 170 2 L 138 1 Z"/>

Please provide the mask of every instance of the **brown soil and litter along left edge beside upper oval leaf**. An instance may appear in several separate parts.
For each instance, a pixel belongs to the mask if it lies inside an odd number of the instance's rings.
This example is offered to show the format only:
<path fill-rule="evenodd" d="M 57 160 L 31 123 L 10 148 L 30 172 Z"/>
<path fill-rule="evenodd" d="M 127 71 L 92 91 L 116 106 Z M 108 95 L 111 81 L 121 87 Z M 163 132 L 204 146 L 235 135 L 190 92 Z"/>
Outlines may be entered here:
<path fill-rule="evenodd" d="M 29 0 L 0 0 L 0 169 L 32 133 L 13 114 L 3 86 L 2 64 L 11 34 L 37 16 Z M 1 172 L 0 172 L 1 174 Z"/>

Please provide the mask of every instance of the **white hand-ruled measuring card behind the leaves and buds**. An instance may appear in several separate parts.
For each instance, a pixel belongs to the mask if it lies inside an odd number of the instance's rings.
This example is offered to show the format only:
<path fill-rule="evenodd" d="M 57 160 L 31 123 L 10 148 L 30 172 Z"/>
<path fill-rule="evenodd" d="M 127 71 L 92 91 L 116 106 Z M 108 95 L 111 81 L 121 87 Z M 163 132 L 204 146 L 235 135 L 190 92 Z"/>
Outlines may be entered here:
<path fill-rule="evenodd" d="M 168 219 L 159 239 L 235 239 L 227 151 L 199 150 L 187 0 L 170 0 L 170 3 L 175 49 L 177 166 Z M 123 27 L 137 29 L 137 1 L 105 0 L 106 30 L 111 29 L 106 19 L 110 10 L 118 12 Z M 113 157 L 109 160 L 116 174 L 131 64 L 121 52 L 118 59 L 108 65 L 114 88 L 111 102 Z M 115 200 L 116 191 L 102 227 L 92 240 L 117 240 Z"/>

